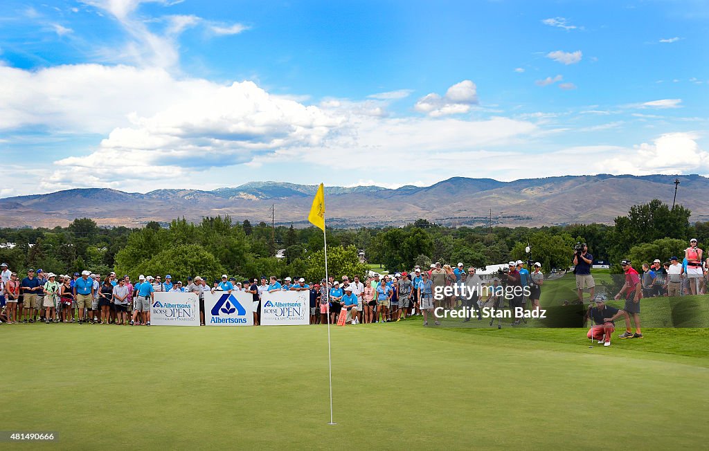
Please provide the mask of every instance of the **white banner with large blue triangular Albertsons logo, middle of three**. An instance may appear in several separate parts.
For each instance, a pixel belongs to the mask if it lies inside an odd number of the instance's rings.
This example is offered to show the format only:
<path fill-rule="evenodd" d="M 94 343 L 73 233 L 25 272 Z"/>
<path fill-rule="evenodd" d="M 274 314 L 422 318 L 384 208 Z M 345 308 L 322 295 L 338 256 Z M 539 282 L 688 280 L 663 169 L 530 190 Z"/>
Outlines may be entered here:
<path fill-rule="evenodd" d="M 207 326 L 253 326 L 253 295 L 239 291 L 204 293 L 204 322 Z"/>

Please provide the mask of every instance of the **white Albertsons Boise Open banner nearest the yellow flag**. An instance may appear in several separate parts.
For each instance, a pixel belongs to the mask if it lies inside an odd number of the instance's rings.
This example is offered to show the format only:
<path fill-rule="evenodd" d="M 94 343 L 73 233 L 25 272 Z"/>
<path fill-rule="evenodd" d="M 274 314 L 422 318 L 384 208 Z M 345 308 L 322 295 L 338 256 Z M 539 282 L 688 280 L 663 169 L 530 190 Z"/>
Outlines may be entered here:
<path fill-rule="evenodd" d="M 261 325 L 310 324 L 309 291 L 264 292 L 261 297 Z"/>

